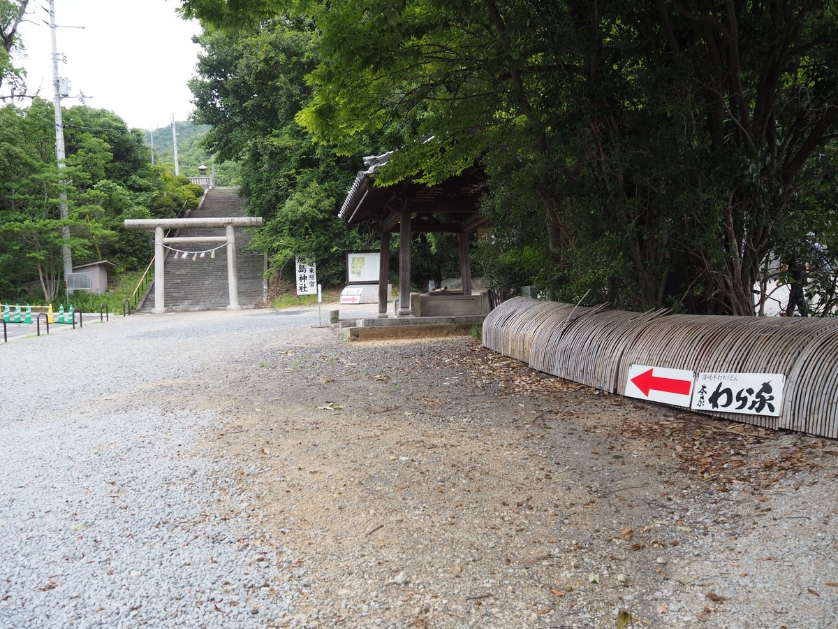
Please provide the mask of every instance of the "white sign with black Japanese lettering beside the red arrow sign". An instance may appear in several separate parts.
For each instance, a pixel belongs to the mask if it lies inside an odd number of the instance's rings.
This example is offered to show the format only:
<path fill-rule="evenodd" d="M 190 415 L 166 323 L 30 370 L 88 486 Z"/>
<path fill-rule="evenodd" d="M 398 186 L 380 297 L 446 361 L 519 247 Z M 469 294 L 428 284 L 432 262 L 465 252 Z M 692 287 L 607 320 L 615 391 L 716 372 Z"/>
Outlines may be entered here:
<path fill-rule="evenodd" d="M 690 408 L 777 417 L 784 384 L 782 373 L 699 373 Z"/>

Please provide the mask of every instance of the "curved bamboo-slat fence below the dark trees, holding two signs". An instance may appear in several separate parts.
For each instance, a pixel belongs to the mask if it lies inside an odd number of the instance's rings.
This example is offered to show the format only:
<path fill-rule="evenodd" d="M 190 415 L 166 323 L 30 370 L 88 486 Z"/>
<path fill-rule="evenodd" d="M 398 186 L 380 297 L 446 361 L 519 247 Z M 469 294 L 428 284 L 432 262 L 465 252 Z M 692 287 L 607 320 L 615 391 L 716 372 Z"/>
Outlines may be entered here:
<path fill-rule="evenodd" d="M 534 369 L 625 394 L 634 364 L 783 373 L 779 417 L 717 417 L 838 438 L 838 319 L 646 313 L 515 298 L 486 317 L 483 344 Z"/>

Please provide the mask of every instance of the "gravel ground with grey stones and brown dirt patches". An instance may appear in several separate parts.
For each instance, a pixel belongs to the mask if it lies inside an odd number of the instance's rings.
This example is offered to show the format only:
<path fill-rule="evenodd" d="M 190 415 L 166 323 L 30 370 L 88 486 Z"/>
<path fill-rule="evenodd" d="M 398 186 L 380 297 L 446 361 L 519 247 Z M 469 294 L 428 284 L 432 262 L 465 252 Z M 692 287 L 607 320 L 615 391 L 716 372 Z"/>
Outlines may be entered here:
<path fill-rule="evenodd" d="M 0 347 L 0 627 L 838 626 L 835 442 L 317 323 Z"/>

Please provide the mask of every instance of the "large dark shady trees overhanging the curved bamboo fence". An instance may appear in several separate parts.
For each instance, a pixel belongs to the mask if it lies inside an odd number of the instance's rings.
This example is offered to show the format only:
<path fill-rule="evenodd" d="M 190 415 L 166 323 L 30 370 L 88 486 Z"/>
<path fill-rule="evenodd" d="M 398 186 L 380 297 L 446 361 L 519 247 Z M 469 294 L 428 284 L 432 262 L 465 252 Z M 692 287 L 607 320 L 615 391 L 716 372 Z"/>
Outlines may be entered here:
<path fill-rule="evenodd" d="M 499 276 L 562 299 L 753 314 L 772 257 L 810 257 L 815 239 L 838 250 L 834 2 L 183 5 L 227 29 L 312 20 L 297 120 L 344 154 L 381 133 L 399 149 L 387 180 L 484 165 Z"/>

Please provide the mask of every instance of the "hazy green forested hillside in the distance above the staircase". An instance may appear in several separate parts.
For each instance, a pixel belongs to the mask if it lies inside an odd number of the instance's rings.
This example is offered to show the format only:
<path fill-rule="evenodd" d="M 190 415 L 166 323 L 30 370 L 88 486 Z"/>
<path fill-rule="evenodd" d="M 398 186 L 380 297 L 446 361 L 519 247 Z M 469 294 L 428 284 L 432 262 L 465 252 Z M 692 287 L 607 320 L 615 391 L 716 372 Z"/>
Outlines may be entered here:
<path fill-rule="evenodd" d="M 201 140 L 209 131 L 207 124 L 193 124 L 192 122 L 175 122 L 178 131 L 178 169 L 180 174 L 187 177 L 197 177 L 198 167 L 204 164 L 207 173 L 212 172 L 212 155 L 201 146 Z M 174 172 L 174 151 L 172 149 L 172 127 L 158 127 L 154 129 L 154 163 L 168 165 Z M 151 145 L 151 132 L 146 130 L 146 144 Z M 225 162 L 215 164 L 215 185 L 238 185 L 239 164 Z"/>

